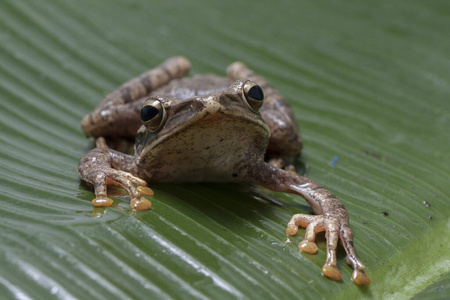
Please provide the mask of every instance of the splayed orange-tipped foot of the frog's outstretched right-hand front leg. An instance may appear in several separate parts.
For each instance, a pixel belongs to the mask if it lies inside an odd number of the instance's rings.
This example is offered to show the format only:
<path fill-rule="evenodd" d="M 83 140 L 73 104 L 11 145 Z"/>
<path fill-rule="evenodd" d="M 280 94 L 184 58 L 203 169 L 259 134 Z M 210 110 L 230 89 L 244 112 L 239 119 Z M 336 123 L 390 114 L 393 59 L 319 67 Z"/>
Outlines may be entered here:
<path fill-rule="evenodd" d="M 323 275 L 336 281 L 342 278 L 336 261 L 336 247 L 340 237 L 347 252 L 347 262 L 354 269 L 352 280 L 361 286 L 370 284 L 370 278 L 364 272 L 364 265 L 356 258 L 353 248 L 353 233 L 346 222 L 340 222 L 333 217 L 324 215 L 296 214 L 289 221 L 286 234 L 295 235 L 299 226 L 306 227 L 305 238 L 299 244 L 299 249 L 311 254 L 317 252 L 317 245 L 314 243 L 316 233 L 326 231 L 327 260 L 322 267 Z"/>

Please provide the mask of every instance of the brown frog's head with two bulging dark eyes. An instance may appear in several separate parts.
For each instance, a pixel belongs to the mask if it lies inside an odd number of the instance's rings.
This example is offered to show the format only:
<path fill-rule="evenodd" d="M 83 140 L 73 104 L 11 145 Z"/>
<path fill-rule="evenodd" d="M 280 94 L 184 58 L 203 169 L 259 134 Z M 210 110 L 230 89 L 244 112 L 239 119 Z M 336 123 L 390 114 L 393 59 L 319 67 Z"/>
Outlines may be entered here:
<path fill-rule="evenodd" d="M 184 100 L 155 96 L 140 111 L 136 154 L 141 159 L 173 152 L 207 157 L 221 147 L 235 153 L 243 147 L 264 155 L 270 131 L 259 109 L 264 93 L 259 85 L 237 80 L 225 90 Z M 216 152 L 220 154 L 220 151 Z M 256 153 L 255 153 L 256 154 Z"/>

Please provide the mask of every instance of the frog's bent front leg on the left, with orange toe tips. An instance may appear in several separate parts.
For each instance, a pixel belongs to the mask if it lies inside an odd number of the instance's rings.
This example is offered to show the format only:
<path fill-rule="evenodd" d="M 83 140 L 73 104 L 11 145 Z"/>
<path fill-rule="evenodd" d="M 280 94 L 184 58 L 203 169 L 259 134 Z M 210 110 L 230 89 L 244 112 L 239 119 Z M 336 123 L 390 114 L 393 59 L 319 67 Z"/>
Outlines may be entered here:
<path fill-rule="evenodd" d="M 153 191 L 146 187 L 144 180 L 132 174 L 135 167 L 133 156 L 108 148 L 104 139 L 99 138 L 97 147 L 81 158 L 78 173 L 83 180 L 94 186 L 94 206 L 111 206 L 113 200 L 107 196 L 107 185 L 120 185 L 130 194 L 132 209 L 148 210 L 151 202 L 142 195 L 151 196 Z"/>

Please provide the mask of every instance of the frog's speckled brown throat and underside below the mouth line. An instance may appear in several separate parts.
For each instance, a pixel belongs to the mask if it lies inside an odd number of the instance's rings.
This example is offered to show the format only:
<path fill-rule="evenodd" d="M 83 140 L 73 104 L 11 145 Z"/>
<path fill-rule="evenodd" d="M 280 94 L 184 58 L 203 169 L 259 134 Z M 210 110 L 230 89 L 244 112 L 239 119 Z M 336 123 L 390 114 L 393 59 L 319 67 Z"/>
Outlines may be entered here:
<path fill-rule="evenodd" d="M 138 162 L 139 176 L 149 182 L 242 182 L 264 159 L 265 128 L 245 120 L 203 122 L 154 147 Z M 243 130 L 243 128 L 249 130 Z"/>

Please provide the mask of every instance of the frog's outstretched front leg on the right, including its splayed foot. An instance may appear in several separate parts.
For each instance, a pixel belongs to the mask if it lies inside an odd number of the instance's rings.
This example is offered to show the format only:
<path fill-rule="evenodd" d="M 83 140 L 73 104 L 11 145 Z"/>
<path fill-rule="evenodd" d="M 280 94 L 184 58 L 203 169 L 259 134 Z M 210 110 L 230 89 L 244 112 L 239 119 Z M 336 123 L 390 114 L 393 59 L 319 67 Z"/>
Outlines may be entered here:
<path fill-rule="evenodd" d="M 259 172 L 255 172 L 254 176 L 259 185 L 280 192 L 294 193 L 308 201 L 316 215 L 294 215 L 287 225 L 286 234 L 295 235 L 300 226 L 306 227 L 305 238 L 299 244 L 299 249 L 313 254 L 317 252 L 317 245 L 314 243 L 316 233 L 325 231 L 327 260 L 322 272 L 326 277 L 333 280 L 342 278 L 336 260 L 336 248 L 340 238 L 347 253 L 347 262 L 354 269 L 352 280 L 357 285 L 370 284 L 370 278 L 364 272 L 364 265 L 356 257 L 347 209 L 335 195 L 314 180 L 268 164 L 259 168 Z"/>

